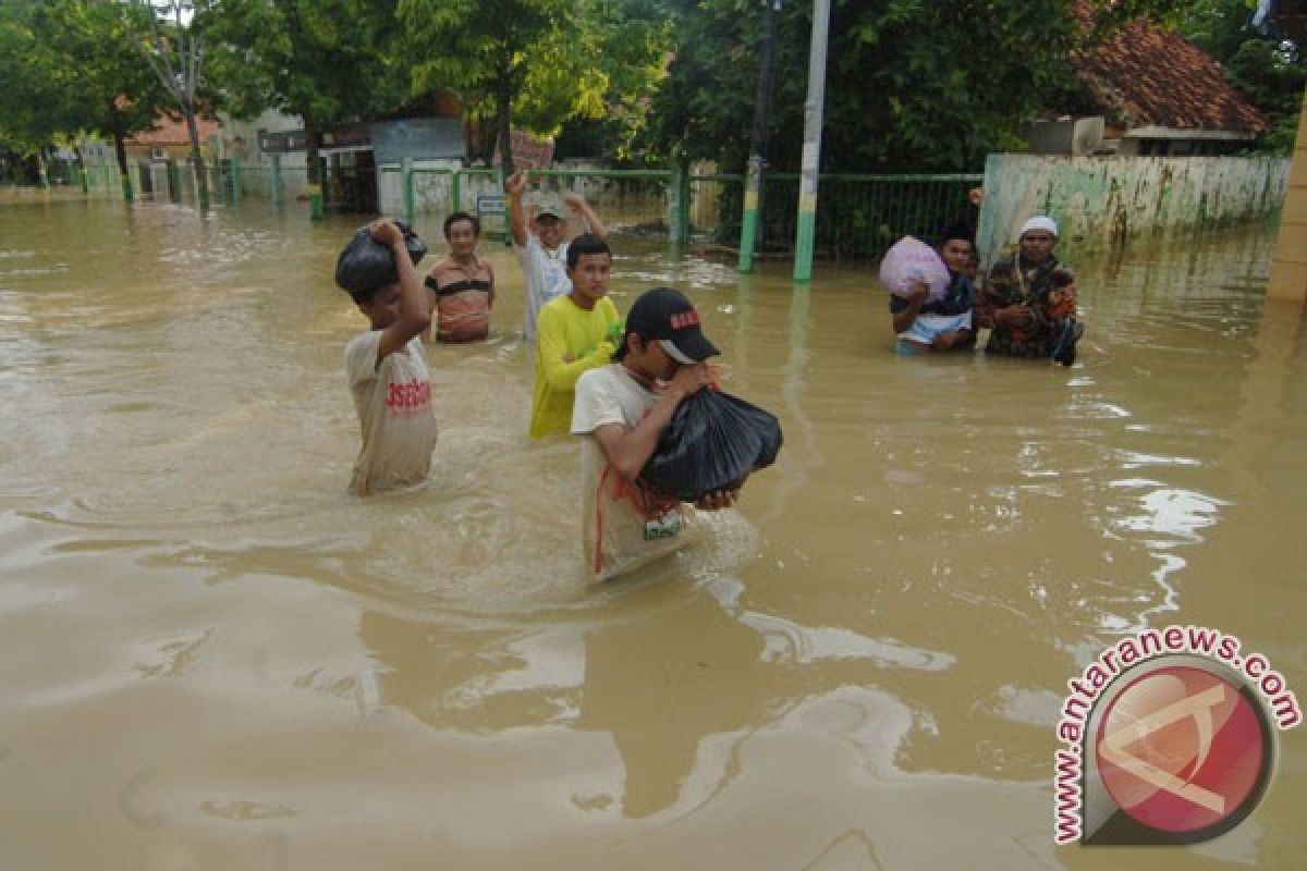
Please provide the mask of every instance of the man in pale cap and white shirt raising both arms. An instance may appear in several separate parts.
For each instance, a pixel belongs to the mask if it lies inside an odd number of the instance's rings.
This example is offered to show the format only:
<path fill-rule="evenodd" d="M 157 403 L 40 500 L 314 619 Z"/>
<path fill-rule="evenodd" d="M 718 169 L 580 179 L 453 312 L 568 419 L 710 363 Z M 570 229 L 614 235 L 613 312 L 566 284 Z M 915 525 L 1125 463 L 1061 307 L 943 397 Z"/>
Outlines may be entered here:
<path fill-rule="evenodd" d="M 521 334 L 528 342 L 535 342 L 540 309 L 550 299 L 571 293 L 571 279 L 567 278 L 566 269 L 567 240 L 563 239 L 566 223 L 558 202 L 545 198 L 536 206 L 532 226 L 527 227 L 527 213 L 521 202 L 527 189 L 525 171 L 510 175 L 503 187 L 508 195 L 508 230 L 512 232 L 518 262 L 521 264 L 521 276 L 527 282 L 527 312 L 521 323 Z M 575 193 L 567 193 L 563 201 L 586 222 L 588 232 L 608 239 L 608 227 L 586 200 Z"/>

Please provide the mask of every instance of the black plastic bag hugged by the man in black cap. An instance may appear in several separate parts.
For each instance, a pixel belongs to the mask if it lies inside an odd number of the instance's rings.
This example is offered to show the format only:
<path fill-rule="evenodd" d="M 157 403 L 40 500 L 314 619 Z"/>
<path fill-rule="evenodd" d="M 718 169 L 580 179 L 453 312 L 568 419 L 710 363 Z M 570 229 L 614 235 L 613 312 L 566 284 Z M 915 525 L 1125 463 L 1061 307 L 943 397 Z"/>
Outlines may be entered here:
<path fill-rule="evenodd" d="M 640 478 L 681 501 L 698 501 L 770 466 L 780 443 L 775 415 L 728 393 L 699 390 L 676 407 Z"/>

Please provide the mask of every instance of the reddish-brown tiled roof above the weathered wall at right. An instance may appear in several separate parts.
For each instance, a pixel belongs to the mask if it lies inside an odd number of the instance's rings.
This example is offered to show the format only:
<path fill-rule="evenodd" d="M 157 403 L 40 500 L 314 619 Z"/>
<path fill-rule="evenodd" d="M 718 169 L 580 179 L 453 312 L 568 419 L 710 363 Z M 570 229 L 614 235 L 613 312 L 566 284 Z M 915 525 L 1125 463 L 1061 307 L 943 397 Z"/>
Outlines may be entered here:
<path fill-rule="evenodd" d="M 1080 77 L 1128 127 L 1261 133 L 1266 119 L 1221 64 L 1180 34 L 1134 21 L 1077 61 Z"/>

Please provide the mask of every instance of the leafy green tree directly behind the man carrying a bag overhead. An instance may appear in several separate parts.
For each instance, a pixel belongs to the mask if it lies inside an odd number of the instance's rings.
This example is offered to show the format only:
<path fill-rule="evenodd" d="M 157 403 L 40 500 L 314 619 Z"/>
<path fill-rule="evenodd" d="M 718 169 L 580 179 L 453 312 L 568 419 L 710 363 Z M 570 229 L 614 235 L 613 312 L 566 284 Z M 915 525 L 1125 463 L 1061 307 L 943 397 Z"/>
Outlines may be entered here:
<path fill-rule="evenodd" d="M 223 0 L 213 20 L 214 78 L 238 116 L 303 119 L 308 183 L 322 182 L 319 133 L 391 112 L 410 76 L 392 0 Z"/>

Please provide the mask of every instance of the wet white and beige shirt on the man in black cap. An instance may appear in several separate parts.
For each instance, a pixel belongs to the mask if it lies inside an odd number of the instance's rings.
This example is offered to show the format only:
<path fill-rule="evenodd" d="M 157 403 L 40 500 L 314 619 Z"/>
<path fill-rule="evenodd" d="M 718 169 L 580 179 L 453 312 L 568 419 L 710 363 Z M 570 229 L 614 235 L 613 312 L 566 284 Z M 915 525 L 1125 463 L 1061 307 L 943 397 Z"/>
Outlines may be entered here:
<path fill-rule="evenodd" d="M 620 363 L 591 370 L 576 381 L 572 435 L 589 436 L 609 423 L 634 427 L 655 402 L 657 394 Z M 591 580 L 623 575 L 685 545 L 694 509 L 623 482 L 593 437 L 582 441 L 580 486 L 582 559 Z"/>

